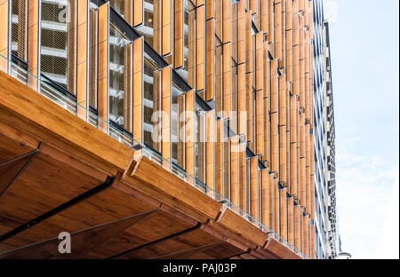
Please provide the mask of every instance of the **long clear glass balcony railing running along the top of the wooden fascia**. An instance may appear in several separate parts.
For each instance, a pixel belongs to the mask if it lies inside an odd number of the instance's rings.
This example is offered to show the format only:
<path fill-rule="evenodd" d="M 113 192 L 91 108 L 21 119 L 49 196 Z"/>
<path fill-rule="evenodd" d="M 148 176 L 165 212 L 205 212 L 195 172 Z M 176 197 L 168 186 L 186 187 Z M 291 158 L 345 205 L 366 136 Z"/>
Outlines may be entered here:
<path fill-rule="evenodd" d="M 155 150 L 136 141 L 135 139 L 132 138 L 132 135 L 127 134 L 120 128 L 114 126 L 114 124 L 108 123 L 104 119 L 100 118 L 98 115 L 95 115 L 94 113 L 92 113 L 92 111 L 90 111 L 86 107 L 83 107 L 71 97 L 68 97 L 68 95 L 66 95 L 65 92 L 57 90 L 56 89 L 57 86 L 55 85 L 52 86 L 52 84 L 49 83 L 49 79 L 47 79 L 46 77 L 37 78 L 37 76 L 30 74 L 25 68 L 21 67 L 17 63 L 12 62 L 9 59 L 6 59 L 1 54 L 0 54 L 0 69 L 9 75 L 12 75 L 12 77 L 16 78 L 21 83 L 28 85 L 28 87 L 30 87 L 34 91 L 37 91 L 40 94 L 44 95 L 47 99 L 51 99 L 54 103 L 68 110 L 68 112 L 70 112 L 71 114 L 80 117 L 87 123 L 90 123 L 92 126 L 99 128 L 101 131 L 106 132 L 108 136 L 112 137 L 113 139 L 116 139 L 120 143 L 123 143 L 124 145 L 129 146 L 132 149 L 137 149 L 137 146 L 140 146 L 140 148 L 143 150 L 142 151 L 143 156 L 146 156 L 150 161 L 155 162 L 156 164 L 160 165 L 166 170 L 169 170 L 173 175 L 186 181 L 188 185 L 194 186 L 197 190 L 212 197 L 212 199 L 214 199 L 215 201 L 222 203 L 224 207 L 227 207 L 229 210 L 232 210 L 237 215 L 250 222 L 253 226 L 259 228 L 262 232 L 268 233 L 276 241 L 279 241 L 285 247 L 291 249 L 294 253 L 296 253 L 300 257 L 304 259 L 309 258 L 299 249 L 296 249 L 291 243 L 284 240 L 284 238 L 282 238 L 278 234 L 274 233 L 271 229 L 268 228 L 268 226 L 265 226 L 256 218 L 252 218 L 251 215 L 249 215 L 244 210 L 237 207 L 227 198 L 213 191 L 210 187 L 206 186 L 202 181 L 196 179 L 194 176 L 189 175 L 185 170 L 180 169 L 180 167 L 175 165 L 173 162 L 165 160 Z"/>

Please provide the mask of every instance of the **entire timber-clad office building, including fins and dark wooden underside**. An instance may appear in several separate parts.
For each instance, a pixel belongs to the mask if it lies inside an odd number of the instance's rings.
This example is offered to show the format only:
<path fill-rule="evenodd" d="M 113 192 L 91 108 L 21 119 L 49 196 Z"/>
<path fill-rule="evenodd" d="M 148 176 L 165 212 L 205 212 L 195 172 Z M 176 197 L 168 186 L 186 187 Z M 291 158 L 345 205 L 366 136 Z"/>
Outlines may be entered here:
<path fill-rule="evenodd" d="M 0 257 L 336 255 L 322 1 L 0 0 L 0 54 Z"/>

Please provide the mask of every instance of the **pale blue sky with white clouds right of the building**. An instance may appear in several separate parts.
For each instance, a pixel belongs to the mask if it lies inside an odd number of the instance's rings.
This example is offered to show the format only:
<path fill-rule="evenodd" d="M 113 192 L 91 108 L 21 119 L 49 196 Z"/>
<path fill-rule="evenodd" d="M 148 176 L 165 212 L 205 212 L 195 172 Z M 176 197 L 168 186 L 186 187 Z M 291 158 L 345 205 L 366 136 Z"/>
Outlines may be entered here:
<path fill-rule="evenodd" d="M 399 1 L 324 0 L 342 250 L 399 258 Z"/>

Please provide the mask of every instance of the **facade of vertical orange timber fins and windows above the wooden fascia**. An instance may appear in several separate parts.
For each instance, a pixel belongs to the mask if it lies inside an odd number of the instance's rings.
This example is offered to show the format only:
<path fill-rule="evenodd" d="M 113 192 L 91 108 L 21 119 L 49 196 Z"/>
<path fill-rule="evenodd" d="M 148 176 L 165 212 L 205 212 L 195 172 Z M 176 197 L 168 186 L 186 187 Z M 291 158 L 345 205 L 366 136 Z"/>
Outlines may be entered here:
<path fill-rule="evenodd" d="M 335 257 L 322 1 L 0 0 L 0 14 L 8 75 L 298 257 Z"/>

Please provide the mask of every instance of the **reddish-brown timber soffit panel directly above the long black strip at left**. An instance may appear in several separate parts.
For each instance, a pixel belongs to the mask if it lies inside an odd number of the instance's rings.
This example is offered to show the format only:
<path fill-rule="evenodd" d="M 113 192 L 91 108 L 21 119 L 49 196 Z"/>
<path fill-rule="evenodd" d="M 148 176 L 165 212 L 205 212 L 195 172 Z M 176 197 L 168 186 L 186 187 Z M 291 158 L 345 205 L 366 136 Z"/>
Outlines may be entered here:
<path fill-rule="evenodd" d="M 4 173 L 0 184 L 13 174 Z M 99 185 L 99 180 L 37 154 L 0 197 L 0 235 Z"/>

